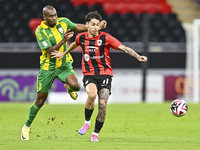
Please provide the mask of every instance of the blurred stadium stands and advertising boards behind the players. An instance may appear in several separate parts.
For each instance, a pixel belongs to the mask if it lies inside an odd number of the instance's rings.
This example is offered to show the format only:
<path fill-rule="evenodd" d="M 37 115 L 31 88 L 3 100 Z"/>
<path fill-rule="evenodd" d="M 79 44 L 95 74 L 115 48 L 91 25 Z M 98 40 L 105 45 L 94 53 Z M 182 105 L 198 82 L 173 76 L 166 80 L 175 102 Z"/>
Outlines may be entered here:
<path fill-rule="evenodd" d="M 34 31 L 46 5 L 55 7 L 58 17 L 67 17 L 74 23 L 85 23 L 84 16 L 97 10 L 108 23 L 104 31 L 148 56 L 144 65 L 111 50 L 114 78 L 110 102 L 184 98 L 187 38 L 183 24 L 192 24 L 200 17 L 198 0 L 0 0 L 0 101 L 35 100 L 41 50 Z M 72 56 L 82 82 L 80 49 Z M 60 99 L 57 103 L 68 103 L 68 95 L 63 92 L 63 85 L 56 80 L 49 102 Z M 85 101 L 84 93 L 82 88 L 75 103 Z"/>

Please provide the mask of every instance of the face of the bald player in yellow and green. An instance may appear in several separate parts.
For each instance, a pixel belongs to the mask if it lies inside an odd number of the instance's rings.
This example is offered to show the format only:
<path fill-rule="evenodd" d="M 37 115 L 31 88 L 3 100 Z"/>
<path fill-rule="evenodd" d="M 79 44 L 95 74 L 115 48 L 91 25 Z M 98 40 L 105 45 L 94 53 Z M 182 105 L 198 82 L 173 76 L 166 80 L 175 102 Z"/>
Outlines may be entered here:
<path fill-rule="evenodd" d="M 55 27 L 57 22 L 57 13 L 55 9 L 48 10 L 43 17 L 44 20 L 46 20 L 47 26 Z"/>

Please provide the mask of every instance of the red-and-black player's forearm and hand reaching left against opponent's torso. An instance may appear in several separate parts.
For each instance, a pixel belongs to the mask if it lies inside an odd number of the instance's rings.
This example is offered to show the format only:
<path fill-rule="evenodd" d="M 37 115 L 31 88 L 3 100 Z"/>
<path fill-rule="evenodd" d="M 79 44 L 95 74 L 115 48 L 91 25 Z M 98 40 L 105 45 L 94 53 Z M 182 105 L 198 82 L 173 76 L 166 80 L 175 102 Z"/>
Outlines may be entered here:
<path fill-rule="evenodd" d="M 55 57 L 58 57 L 59 59 L 57 60 L 57 62 L 59 62 L 67 53 L 70 53 L 71 51 L 73 51 L 75 48 L 76 48 L 76 43 L 73 42 L 70 44 L 69 48 L 64 52 L 64 53 L 61 53 L 61 52 L 58 52 L 57 50 L 54 50 L 52 53 L 51 53 L 51 58 L 55 58 Z"/>

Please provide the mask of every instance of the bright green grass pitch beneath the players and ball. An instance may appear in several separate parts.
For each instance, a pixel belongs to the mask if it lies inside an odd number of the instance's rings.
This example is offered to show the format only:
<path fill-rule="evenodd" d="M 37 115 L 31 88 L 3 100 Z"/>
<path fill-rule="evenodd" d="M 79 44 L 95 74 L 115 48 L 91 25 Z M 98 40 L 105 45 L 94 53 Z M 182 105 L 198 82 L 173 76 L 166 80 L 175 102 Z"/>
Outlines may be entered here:
<path fill-rule="evenodd" d="M 170 113 L 170 103 L 108 104 L 99 142 L 90 142 L 78 129 L 84 105 L 45 104 L 38 112 L 29 141 L 20 139 L 31 103 L 0 103 L 0 150 L 199 150 L 200 106 L 188 104 L 183 117 Z"/>

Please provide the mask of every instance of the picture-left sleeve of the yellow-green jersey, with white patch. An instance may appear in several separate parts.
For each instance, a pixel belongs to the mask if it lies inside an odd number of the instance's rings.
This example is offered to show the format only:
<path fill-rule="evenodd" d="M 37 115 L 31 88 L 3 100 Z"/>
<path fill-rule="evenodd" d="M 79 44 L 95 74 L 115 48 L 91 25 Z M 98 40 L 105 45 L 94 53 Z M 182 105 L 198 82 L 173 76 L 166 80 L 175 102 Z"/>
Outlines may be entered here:
<path fill-rule="evenodd" d="M 43 29 L 38 27 L 35 31 L 36 40 L 41 49 L 47 49 L 52 46 L 48 38 L 45 36 Z"/>

